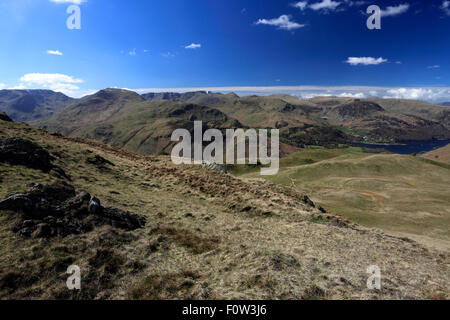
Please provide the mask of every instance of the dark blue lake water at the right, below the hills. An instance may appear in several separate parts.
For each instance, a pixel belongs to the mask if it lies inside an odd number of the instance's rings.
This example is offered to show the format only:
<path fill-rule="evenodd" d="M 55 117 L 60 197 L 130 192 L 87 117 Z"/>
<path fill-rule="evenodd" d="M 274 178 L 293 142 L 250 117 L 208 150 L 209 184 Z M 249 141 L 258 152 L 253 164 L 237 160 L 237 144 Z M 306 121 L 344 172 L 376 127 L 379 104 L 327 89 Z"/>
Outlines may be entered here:
<path fill-rule="evenodd" d="M 398 154 L 413 154 L 419 152 L 428 152 L 433 149 L 445 147 L 450 140 L 432 140 L 432 141 L 409 141 L 404 144 L 366 144 L 357 143 L 359 147 L 370 149 L 385 149 Z"/>

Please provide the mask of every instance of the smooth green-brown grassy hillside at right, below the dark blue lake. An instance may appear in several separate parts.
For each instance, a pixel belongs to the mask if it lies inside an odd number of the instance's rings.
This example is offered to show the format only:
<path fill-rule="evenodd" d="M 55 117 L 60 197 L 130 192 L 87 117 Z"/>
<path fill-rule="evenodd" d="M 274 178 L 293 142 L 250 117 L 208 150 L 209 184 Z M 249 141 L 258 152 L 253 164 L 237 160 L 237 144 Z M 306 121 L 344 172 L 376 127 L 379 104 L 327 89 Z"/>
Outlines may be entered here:
<path fill-rule="evenodd" d="M 270 181 L 307 191 L 331 212 L 450 248 L 450 167 L 446 164 L 357 149 L 316 149 L 282 159 L 281 167 L 277 176 L 268 177 Z"/>

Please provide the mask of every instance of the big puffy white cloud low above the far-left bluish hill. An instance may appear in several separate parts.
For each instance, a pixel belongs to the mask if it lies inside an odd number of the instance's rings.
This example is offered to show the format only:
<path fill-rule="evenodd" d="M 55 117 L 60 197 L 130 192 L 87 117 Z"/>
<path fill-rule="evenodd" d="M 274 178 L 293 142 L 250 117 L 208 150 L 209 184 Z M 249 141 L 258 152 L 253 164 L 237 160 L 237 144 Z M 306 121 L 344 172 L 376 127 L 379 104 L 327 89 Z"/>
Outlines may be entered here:
<path fill-rule="evenodd" d="M 60 73 L 28 73 L 20 78 L 16 89 L 50 89 L 67 95 L 76 95 L 83 80 Z"/>

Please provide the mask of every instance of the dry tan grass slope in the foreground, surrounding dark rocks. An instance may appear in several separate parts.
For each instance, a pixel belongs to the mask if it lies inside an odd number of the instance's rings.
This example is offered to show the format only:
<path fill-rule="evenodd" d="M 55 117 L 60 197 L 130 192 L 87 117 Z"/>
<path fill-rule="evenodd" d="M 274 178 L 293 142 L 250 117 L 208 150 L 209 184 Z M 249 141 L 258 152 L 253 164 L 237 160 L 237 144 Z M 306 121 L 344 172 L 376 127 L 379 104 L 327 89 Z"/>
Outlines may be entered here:
<path fill-rule="evenodd" d="M 60 170 L 30 167 L 37 153 L 22 165 L 2 161 L 0 198 L 23 194 L 30 183 L 70 185 L 102 205 L 146 218 L 146 224 L 130 231 L 106 224 L 64 237 L 27 238 L 16 227 L 32 222 L 0 201 L 2 299 L 449 297 L 448 253 L 321 213 L 294 188 L 175 166 L 166 157 L 0 120 L 0 139 L 13 137 L 44 148 L 46 161 Z M 332 156 L 311 154 L 312 161 Z M 72 264 L 81 268 L 79 292 L 65 285 Z M 379 292 L 366 288 L 366 269 L 374 264 L 383 275 Z"/>

